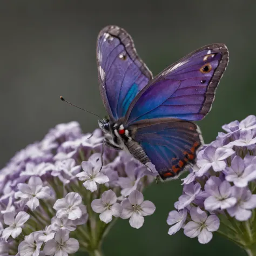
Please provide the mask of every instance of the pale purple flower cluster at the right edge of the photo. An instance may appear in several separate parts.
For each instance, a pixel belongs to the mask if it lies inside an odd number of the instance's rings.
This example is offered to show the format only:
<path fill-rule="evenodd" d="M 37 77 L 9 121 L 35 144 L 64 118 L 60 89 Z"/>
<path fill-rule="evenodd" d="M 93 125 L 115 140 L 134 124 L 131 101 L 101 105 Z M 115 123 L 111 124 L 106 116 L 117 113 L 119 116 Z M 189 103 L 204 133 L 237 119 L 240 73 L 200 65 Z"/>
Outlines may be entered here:
<path fill-rule="evenodd" d="M 184 229 L 201 244 L 212 232 L 243 248 L 254 242 L 256 226 L 256 117 L 223 126 L 216 140 L 198 152 L 197 163 L 183 179 L 183 194 L 167 224 L 172 235 Z"/>

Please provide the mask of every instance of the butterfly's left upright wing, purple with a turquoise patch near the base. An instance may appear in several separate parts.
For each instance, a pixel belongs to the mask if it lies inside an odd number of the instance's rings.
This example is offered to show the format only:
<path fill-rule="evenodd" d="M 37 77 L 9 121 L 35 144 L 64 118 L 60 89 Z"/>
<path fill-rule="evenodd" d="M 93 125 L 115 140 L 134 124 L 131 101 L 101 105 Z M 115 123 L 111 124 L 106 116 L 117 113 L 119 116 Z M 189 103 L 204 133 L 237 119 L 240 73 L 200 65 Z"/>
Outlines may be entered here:
<path fill-rule="evenodd" d="M 152 79 L 131 36 L 118 26 L 100 31 L 97 41 L 100 93 L 112 121 L 125 116 L 132 100 Z"/>

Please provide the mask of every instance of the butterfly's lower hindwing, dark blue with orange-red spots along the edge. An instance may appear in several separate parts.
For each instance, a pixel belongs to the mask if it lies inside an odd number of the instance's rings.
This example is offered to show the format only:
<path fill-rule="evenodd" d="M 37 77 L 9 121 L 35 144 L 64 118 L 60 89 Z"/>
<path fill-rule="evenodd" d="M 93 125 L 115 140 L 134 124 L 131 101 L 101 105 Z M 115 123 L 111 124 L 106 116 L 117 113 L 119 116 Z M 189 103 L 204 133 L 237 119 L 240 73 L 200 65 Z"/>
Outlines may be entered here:
<path fill-rule="evenodd" d="M 179 119 L 146 119 L 129 129 L 163 180 L 178 177 L 193 164 L 203 143 L 198 126 Z"/>

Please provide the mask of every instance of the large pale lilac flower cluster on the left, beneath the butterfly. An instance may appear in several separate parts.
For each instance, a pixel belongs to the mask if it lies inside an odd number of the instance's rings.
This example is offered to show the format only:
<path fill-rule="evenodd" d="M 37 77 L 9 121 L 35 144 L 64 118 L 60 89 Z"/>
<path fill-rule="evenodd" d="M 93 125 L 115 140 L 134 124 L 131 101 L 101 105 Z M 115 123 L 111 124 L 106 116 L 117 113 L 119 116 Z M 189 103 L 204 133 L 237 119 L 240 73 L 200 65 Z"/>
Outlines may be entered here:
<path fill-rule="evenodd" d="M 0 171 L 0 255 L 101 255 L 111 221 L 139 228 L 154 212 L 142 194 L 152 181 L 129 154 L 103 152 L 102 131 L 59 124 Z"/>

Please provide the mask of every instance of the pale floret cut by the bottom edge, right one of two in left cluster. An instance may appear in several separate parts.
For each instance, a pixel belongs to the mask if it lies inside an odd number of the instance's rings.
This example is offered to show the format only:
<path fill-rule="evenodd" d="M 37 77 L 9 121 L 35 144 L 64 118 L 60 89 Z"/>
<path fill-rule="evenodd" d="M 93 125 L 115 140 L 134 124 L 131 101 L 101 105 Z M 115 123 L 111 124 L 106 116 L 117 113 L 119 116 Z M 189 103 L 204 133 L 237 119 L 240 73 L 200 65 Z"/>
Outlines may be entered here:
<path fill-rule="evenodd" d="M 79 249 L 79 243 L 75 238 L 69 238 L 68 230 L 59 230 L 54 239 L 46 242 L 44 246 L 45 255 L 68 256 Z"/>

